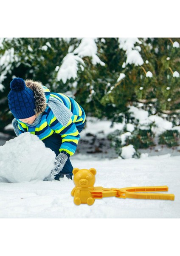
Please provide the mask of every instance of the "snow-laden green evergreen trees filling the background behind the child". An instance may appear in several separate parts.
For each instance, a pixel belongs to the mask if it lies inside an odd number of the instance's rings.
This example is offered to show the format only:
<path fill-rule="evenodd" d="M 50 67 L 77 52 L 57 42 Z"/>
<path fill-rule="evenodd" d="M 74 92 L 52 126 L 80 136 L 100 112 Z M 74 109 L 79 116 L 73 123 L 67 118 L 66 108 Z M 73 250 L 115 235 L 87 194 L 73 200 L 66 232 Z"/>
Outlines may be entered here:
<path fill-rule="evenodd" d="M 155 123 L 145 136 L 129 110 L 180 125 L 179 52 L 180 38 L 0 38 L 0 131 L 13 118 L 10 81 L 22 77 L 73 97 L 87 115 L 135 125 L 126 145 L 146 147 Z"/>

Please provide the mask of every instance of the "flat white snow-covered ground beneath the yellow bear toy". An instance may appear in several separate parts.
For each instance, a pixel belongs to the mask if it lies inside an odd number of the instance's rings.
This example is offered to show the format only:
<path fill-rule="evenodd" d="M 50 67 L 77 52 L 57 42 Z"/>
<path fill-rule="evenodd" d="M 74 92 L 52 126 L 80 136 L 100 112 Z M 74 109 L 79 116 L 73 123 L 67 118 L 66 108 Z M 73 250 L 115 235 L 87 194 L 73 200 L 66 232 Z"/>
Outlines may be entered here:
<path fill-rule="evenodd" d="M 95 186 L 169 186 L 174 201 L 103 198 L 76 206 L 67 178 L 0 183 L 0 218 L 180 218 L 180 156 L 100 160 L 76 155 L 74 167 L 97 170 Z"/>

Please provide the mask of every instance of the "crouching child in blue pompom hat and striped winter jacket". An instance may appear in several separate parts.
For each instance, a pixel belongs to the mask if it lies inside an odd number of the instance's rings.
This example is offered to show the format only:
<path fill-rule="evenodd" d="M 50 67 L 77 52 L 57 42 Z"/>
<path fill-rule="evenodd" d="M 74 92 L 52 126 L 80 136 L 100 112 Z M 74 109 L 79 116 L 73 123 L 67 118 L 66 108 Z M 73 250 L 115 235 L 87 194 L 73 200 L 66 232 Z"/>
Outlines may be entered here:
<path fill-rule="evenodd" d="M 62 93 L 50 93 L 38 81 L 14 78 L 10 88 L 8 104 L 15 117 L 12 124 L 16 135 L 27 131 L 37 135 L 56 154 L 51 171 L 55 180 L 64 175 L 72 180 L 70 156 L 75 153 L 84 128 L 83 108 Z"/>

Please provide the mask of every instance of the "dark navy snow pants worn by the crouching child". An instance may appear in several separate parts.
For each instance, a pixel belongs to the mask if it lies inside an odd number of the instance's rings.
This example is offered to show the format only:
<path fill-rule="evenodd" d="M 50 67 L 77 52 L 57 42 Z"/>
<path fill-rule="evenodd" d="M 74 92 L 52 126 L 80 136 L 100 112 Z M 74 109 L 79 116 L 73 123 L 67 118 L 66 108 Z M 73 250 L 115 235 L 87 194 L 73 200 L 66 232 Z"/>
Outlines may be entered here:
<path fill-rule="evenodd" d="M 76 126 L 79 133 L 83 130 L 84 125 L 85 122 L 82 125 Z M 42 142 L 45 143 L 46 148 L 51 148 L 51 150 L 55 152 L 56 156 L 59 154 L 59 148 L 62 144 L 62 138 L 59 134 L 54 133 L 48 138 L 42 140 Z M 73 175 L 73 166 L 70 162 L 70 157 L 68 157 L 68 160 L 61 172 Z"/>

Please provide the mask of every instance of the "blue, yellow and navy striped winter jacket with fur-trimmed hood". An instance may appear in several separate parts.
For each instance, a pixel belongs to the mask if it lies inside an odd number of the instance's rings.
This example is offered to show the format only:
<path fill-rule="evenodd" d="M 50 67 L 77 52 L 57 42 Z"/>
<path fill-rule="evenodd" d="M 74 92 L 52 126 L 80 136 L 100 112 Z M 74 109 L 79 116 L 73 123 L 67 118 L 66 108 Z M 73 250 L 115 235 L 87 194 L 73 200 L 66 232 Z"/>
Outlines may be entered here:
<path fill-rule="evenodd" d="M 36 126 L 28 126 L 17 119 L 20 134 L 28 131 L 31 134 L 37 135 L 40 140 L 44 140 L 53 133 L 57 133 L 62 137 L 62 144 L 59 148 L 59 152 L 64 152 L 68 156 L 73 155 L 80 138 L 76 127 L 82 125 L 86 119 L 83 108 L 74 99 L 65 94 L 50 93 L 49 89 L 43 86 L 40 82 L 26 80 L 25 84 L 34 91 L 36 113 L 42 113 L 42 118 L 40 123 Z M 58 99 L 73 113 L 68 125 L 63 126 L 48 107 L 47 102 L 50 96 Z"/>

